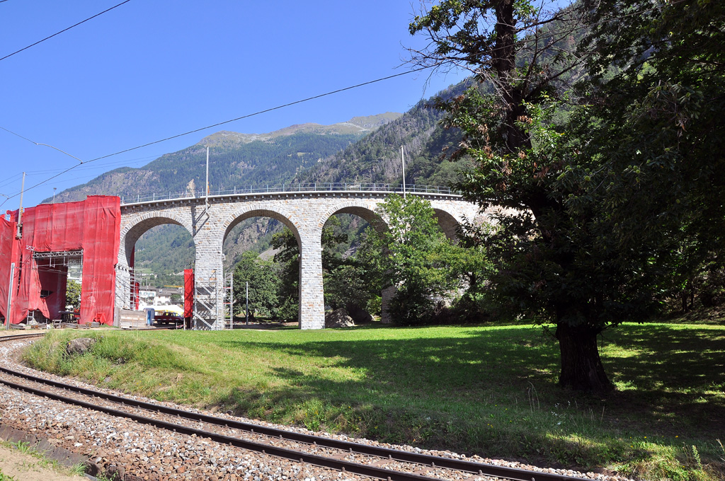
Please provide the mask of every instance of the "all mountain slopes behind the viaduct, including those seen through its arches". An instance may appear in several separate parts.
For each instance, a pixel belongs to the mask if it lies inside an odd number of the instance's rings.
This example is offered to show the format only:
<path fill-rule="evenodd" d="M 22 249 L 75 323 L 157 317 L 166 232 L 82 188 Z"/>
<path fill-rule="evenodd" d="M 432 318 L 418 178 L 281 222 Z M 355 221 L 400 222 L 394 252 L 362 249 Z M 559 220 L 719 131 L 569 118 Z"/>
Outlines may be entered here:
<path fill-rule="evenodd" d="M 442 91 L 448 97 L 464 84 Z M 191 181 L 204 186 L 206 147 L 210 146 L 211 191 L 282 183 L 402 183 L 400 146 L 406 155 L 408 184 L 450 185 L 463 163 L 443 162 L 440 153 L 455 142 L 455 132 L 439 126 L 442 112 L 421 101 L 405 114 L 386 112 L 354 117 L 334 125 L 304 123 L 265 134 L 213 133 L 181 151 L 165 154 L 133 169 L 112 170 L 90 182 L 59 193 L 56 201 L 75 201 L 91 194 L 149 195 L 185 191 Z M 349 217 L 349 216 L 347 216 Z M 341 219 L 353 234 L 364 227 L 357 218 Z M 224 243 L 224 268 L 231 269 L 244 251 L 262 253 L 282 226 L 273 219 L 247 219 Z M 341 230 L 342 227 L 336 227 Z M 355 235 L 339 250 L 347 251 Z M 162 225 L 136 243 L 136 268 L 151 274 L 144 282 L 157 287 L 178 285 L 181 272 L 194 263 L 194 243 L 183 227 Z M 155 275 L 155 277 L 154 277 Z"/>

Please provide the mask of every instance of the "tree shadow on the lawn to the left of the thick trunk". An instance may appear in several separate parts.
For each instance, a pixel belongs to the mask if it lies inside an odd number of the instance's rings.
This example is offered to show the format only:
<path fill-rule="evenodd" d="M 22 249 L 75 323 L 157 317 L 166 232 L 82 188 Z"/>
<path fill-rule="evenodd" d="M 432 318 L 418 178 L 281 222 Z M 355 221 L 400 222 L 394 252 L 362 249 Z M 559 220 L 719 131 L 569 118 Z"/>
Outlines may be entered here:
<path fill-rule="evenodd" d="M 407 339 L 306 340 L 224 340 L 219 345 L 233 351 L 247 349 L 279 351 L 300 358 L 320 357 L 331 361 L 328 367 L 365 372 L 369 388 L 405 386 L 450 396 L 457 390 L 490 390 L 497 385 L 518 385 L 526 390 L 529 382 L 555 382 L 558 358 L 540 339 L 537 330 L 477 332 L 476 336 L 415 337 Z M 324 369 L 324 368 L 323 368 Z M 276 374 L 297 381 L 310 392 L 318 389 L 320 377 L 299 379 L 294 367 Z M 300 383 L 299 381 L 302 381 Z M 345 390 L 349 392 L 349 390 Z M 395 393 L 390 393 L 395 394 Z"/>

